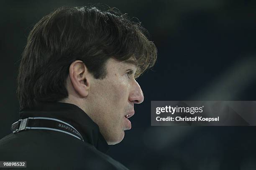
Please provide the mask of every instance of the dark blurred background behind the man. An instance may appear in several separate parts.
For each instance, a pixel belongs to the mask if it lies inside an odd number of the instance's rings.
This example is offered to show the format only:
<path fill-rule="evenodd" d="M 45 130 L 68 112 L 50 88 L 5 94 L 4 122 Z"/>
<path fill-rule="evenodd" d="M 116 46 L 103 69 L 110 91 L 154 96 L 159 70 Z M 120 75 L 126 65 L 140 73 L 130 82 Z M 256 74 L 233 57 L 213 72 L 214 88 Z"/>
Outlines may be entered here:
<path fill-rule="evenodd" d="M 158 48 L 156 65 L 138 79 L 145 100 L 133 128 L 110 156 L 132 170 L 256 169 L 256 127 L 150 122 L 152 100 L 256 100 L 255 0 L 2 0 L 0 138 L 19 118 L 16 77 L 33 25 L 56 7 L 88 3 L 137 17 Z"/>

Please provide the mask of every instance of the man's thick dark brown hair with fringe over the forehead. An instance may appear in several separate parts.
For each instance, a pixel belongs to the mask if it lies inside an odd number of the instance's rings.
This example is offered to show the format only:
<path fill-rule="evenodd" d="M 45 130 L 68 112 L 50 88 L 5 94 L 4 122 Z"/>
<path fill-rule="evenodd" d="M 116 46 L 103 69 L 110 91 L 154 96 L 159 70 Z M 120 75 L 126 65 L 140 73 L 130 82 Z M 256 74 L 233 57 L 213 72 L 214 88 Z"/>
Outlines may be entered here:
<path fill-rule="evenodd" d="M 44 16 L 28 35 L 18 73 L 20 109 L 36 102 L 68 97 L 65 87 L 69 66 L 82 60 L 97 79 L 107 72 L 105 63 L 136 59 L 136 77 L 152 67 L 157 50 L 140 23 L 117 10 L 60 7 Z"/>

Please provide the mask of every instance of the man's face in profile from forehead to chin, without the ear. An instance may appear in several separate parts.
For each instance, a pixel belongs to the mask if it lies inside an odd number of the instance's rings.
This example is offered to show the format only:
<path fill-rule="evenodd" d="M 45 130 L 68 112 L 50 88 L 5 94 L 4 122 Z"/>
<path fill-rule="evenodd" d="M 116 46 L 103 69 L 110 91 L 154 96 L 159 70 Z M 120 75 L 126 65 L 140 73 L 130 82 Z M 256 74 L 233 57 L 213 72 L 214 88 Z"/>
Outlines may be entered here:
<path fill-rule="evenodd" d="M 141 87 L 134 79 L 136 69 L 131 63 L 110 58 L 106 63 L 106 77 L 91 81 L 87 97 L 92 102 L 87 109 L 93 112 L 92 119 L 110 145 L 123 140 L 124 130 L 131 129 L 126 115 L 132 116 L 134 103 L 144 100 Z"/>

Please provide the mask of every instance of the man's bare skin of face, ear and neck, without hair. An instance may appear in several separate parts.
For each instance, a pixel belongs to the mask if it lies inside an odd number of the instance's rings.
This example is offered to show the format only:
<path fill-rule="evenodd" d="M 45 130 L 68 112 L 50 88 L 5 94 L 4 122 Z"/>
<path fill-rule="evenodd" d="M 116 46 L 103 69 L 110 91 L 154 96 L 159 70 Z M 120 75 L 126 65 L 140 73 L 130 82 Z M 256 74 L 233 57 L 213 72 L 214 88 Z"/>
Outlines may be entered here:
<path fill-rule="evenodd" d="M 82 61 L 74 61 L 67 79 L 69 97 L 62 102 L 81 107 L 99 125 L 108 144 L 116 144 L 123 140 L 124 130 L 131 129 L 127 115 L 134 114 L 134 104 L 144 97 L 134 79 L 136 65 L 110 58 L 105 67 L 106 77 L 95 79 Z"/>

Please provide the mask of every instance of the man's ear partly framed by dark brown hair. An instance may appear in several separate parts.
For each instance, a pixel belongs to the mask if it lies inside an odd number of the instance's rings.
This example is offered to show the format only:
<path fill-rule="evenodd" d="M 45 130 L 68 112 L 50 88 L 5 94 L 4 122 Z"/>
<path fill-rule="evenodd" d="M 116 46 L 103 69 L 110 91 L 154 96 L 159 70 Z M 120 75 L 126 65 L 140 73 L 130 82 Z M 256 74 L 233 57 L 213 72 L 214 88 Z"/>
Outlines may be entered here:
<path fill-rule="evenodd" d="M 90 89 L 90 73 L 84 62 L 75 60 L 69 66 L 69 77 L 74 90 L 81 96 L 87 97 Z"/>

